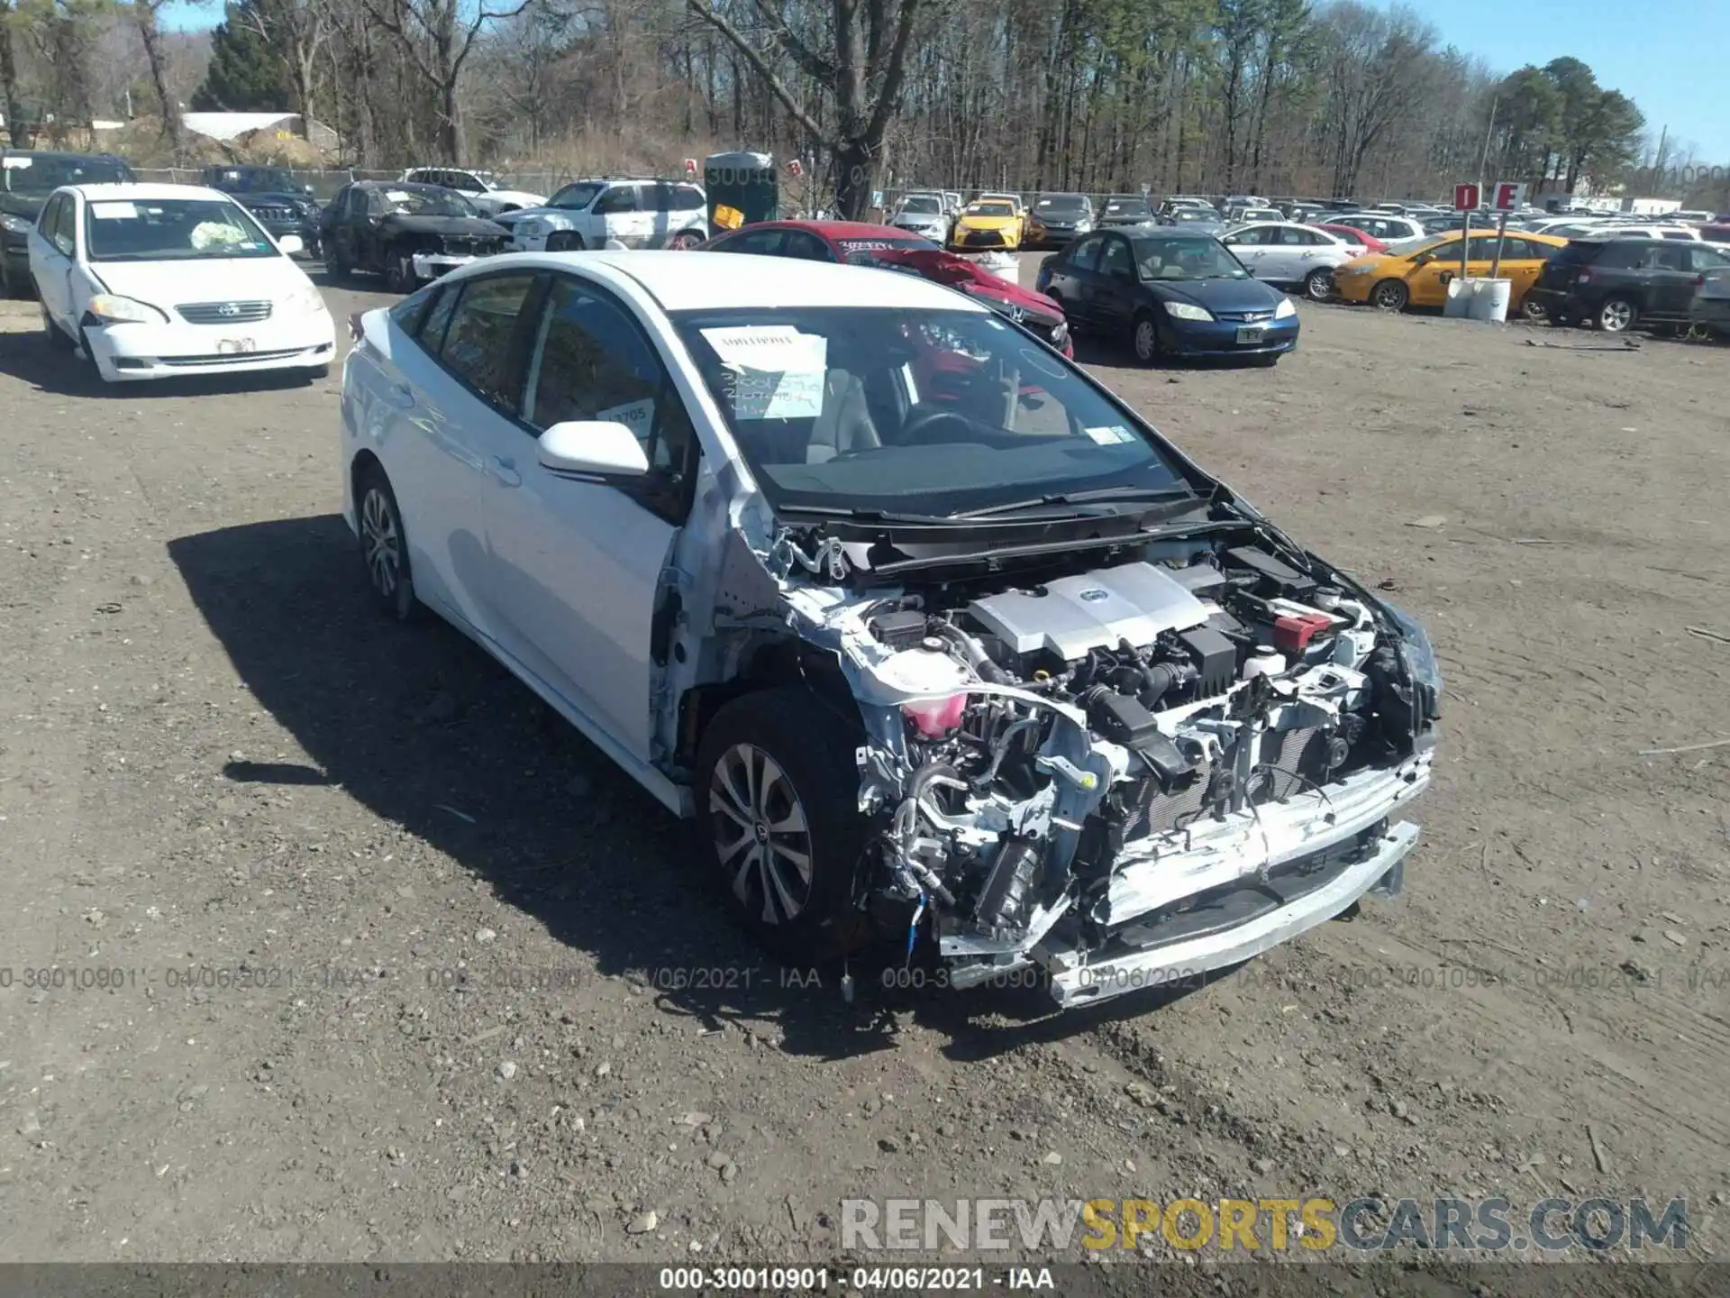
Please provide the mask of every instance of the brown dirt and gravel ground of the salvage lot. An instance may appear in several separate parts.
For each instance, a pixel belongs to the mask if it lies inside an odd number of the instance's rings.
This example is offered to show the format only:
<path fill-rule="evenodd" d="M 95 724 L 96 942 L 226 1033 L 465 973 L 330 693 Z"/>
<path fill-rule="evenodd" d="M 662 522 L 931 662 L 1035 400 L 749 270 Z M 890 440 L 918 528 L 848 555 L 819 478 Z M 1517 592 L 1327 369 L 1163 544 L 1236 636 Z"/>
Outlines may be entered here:
<path fill-rule="evenodd" d="M 905 1194 L 1687 1196 L 1721 1256 L 1730 351 L 1301 310 L 1273 370 L 1088 358 L 1429 627 L 1406 893 L 1057 1016 L 789 981 L 379 621 L 336 376 L 99 391 L 0 305 L 0 1260 L 832 1258 Z"/>

